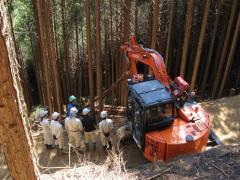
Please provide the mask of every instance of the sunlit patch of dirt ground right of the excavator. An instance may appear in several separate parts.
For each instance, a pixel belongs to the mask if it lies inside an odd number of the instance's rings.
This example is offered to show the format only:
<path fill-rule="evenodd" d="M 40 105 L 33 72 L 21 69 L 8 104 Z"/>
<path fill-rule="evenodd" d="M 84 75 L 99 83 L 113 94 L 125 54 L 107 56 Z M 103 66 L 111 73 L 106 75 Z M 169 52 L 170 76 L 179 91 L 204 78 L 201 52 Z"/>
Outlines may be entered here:
<path fill-rule="evenodd" d="M 224 144 L 240 144 L 240 95 L 203 102 L 212 129 Z"/>

